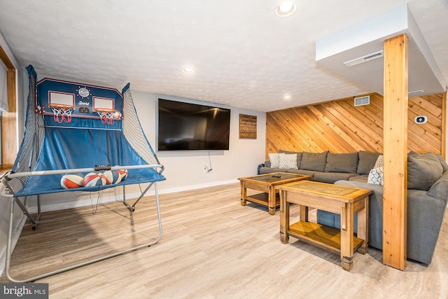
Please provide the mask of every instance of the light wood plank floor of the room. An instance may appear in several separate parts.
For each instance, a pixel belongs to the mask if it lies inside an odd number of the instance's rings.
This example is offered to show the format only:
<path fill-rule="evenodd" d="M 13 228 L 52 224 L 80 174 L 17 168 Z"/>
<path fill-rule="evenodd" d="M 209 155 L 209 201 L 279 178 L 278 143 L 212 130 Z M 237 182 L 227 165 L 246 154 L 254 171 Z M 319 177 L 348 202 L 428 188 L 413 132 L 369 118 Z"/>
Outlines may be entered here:
<path fill-rule="evenodd" d="M 99 204 L 99 211 L 122 205 Z M 448 298 L 448 213 L 428 267 L 407 261 L 396 270 L 369 249 L 355 254 L 347 272 L 335 253 L 294 238 L 282 244 L 279 211 L 270 216 L 257 204 L 242 207 L 237 183 L 160 195 L 160 209 L 158 244 L 36 282 L 49 284 L 50 298 Z M 66 211 L 43 218 L 55 214 Z M 132 218 L 121 210 L 40 223 L 35 231 L 27 223 L 12 274 L 38 274 L 151 235 L 158 235 L 152 197 Z"/>

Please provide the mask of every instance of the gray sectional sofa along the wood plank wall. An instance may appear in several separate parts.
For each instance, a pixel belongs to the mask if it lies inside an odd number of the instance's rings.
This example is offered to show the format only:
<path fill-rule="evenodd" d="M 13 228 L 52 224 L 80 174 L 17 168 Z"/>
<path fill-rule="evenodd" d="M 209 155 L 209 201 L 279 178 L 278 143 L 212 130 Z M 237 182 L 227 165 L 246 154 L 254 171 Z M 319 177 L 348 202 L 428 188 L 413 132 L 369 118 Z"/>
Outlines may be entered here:
<path fill-rule="evenodd" d="M 380 153 L 279 153 L 296 154 L 296 167 L 271 167 L 271 161 L 265 161 L 259 168 L 260 174 L 293 172 L 310 175 L 313 181 L 374 190 L 369 199 L 369 246 L 382 249 L 383 186 L 367 183 L 370 169 L 375 166 Z M 410 152 L 407 176 L 407 258 L 428 265 L 447 207 L 448 165 L 440 155 Z M 317 211 L 317 221 L 340 227 L 339 215 L 327 211 Z"/>

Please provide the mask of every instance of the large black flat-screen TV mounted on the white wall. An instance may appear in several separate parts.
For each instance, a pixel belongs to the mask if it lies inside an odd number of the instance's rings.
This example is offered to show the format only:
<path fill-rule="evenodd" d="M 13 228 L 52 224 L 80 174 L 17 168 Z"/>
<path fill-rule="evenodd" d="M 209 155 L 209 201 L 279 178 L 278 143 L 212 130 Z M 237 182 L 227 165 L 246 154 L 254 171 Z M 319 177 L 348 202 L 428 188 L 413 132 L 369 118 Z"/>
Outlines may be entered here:
<path fill-rule="evenodd" d="M 159 99 L 158 151 L 228 150 L 230 109 Z"/>

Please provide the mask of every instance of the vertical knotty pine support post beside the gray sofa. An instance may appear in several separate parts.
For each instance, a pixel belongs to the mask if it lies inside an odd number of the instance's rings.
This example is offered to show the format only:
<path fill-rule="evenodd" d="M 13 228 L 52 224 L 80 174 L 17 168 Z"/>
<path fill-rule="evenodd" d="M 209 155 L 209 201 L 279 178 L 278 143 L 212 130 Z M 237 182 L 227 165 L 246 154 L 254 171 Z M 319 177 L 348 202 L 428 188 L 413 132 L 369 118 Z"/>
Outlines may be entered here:
<path fill-rule="evenodd" d="M 384 41 L 383 263 L 406 261 L 408 38 Z"/>

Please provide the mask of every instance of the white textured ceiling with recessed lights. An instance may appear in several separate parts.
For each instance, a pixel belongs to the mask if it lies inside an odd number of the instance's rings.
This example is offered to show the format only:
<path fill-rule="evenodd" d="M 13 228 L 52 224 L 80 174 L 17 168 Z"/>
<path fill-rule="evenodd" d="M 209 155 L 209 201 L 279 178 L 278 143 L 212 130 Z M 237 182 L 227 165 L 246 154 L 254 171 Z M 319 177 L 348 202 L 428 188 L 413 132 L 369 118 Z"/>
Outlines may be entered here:
<path fill-rule="evenodd" d="M 0 30 L 38 74 L 273 111 L 372 92 L 316 63 L 315 43 L 408 3 L 448 78 L 447 0 L 295 0 L 288 18 L 280 2 L 0 0 Z"/>

